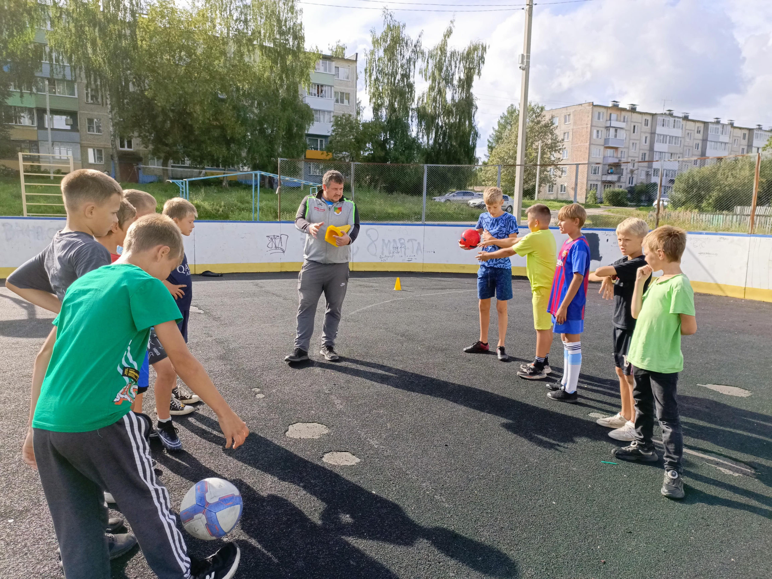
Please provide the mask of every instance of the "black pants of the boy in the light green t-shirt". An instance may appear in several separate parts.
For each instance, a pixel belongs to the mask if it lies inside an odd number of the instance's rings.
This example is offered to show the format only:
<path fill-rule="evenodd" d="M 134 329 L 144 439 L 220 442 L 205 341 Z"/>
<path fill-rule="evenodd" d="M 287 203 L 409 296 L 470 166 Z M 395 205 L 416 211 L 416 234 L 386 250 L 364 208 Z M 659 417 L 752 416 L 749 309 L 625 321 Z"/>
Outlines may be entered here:
<path fill-rule="evenodd" d="M 654 418 L 662 428 L 662 442 L 665 445 L 665 469 L 682 471 L 683 435 L 678 415 L 678 401 L 675 400 L 675 385 L 678 372 L 662 374 L 633 367 L 635 385 L 632 398 L 635 400 L 635 440 L 645 446 L 652 445 Z"/>

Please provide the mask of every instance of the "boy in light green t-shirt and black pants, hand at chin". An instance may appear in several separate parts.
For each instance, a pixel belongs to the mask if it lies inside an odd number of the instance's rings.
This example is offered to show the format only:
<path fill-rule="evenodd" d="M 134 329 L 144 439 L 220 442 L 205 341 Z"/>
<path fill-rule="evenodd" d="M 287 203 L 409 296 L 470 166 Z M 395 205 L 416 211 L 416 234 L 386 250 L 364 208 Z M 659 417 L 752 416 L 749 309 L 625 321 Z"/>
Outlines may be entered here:
<path fill-rule="evenodd" d="M 637 410 L 635 440 L 629 446 L 614 449 L 613 454 L 623 460 L 655 462 L 659 459 L 652 442 L 656 416 L 665 445 L 665 480 L 661 493 L 670 499 L 682 499 L 683 435 L 675 386 L 683 370 L 681 336 L 691 336 L 697 331 L 694 292 L 689 278 L 681 271 L 686 232 L 662 225 L 648 232 L 643 248 L 648 265 L 639 268 L 635 277 L 630 309 L 637 322 L 628 352 L 635 380 L 632 391 Z M 660 269 L 663 275 L 644 293 L 646 280 Z"/>

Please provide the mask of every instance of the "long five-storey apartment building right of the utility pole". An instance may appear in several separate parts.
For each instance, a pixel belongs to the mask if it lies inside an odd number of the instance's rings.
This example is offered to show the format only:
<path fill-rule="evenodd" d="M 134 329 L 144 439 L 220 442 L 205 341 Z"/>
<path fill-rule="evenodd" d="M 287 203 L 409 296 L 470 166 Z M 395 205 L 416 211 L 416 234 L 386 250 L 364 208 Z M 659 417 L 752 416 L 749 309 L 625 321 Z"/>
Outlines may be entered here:
<path fill-rule="evenodd" d="M 540 198 L 584 201 L 596 191 L 598 199 L 610 188 L 627 188 L 638 183 L 659 183 L 667 196 L 679 171 L 679 164 L 697 157 L 723 157 L 757 152 L 772 135 L 760 125 L 755 129 L 737 127 L 733 120 L 696 120 L 689 113 L 675 116 L 639 111 L 629 104 L 620 107 L 581 103 L 545 111 L 564 148 L 555 161 L 556 182 L 540 187 Z"/>

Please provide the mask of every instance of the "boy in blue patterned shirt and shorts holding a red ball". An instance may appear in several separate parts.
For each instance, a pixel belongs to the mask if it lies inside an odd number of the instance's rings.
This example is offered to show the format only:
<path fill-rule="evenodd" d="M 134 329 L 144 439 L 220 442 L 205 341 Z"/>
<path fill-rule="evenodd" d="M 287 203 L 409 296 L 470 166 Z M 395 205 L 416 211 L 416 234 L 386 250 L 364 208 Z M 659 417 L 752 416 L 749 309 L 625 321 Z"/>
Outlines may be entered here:
<path fill-rule="evenodd" d="M 485 201 L 487 212 L 482 213 L 477 220 L 477 232 L 480 236 L 486 235 L 486 243 L 482 247 L 484 252 L 493 252 L 499 249 L 496 241 L 517 237 L 517 220 L 511 213 L 506 213 L 502 206 L 504 197 L 498 187 L 486 188 L 482 193 L 482 201 Z M 462 249 L 464 247 L 459 242 Z M 509 245 L 507 245 L 509 247 Z M 488 327 L 490 324 L 490 299 L 496 296 L 496 312 L 499 313 L 499 344 L 496 354 L 499 360 L 508 359 L 504 350 L 506 338 L 506 301 L 512 299 L 512 262 L 510 258 L 501 257 L 480 262 L 477 272 L 477 297 L 479 298 L 480 312 L 480 337 L 474 344 L 464 348 L 467 354 L 485 353 L 490 350 L 488 345 Z"/>

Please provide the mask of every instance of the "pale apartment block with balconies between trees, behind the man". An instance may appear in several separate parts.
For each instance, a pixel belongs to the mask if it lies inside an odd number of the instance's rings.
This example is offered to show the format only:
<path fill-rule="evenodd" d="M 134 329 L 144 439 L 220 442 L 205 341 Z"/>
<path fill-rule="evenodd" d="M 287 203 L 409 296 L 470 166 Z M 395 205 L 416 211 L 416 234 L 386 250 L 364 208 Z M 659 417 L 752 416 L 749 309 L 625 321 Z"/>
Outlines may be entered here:
<path fill-rule="evenodd" d="M 327 159 L 324 153 L 333 130 L 333 118 L 357 114 L 357 54 L 338 58 L 323 55 L 311 73 L 303 101 L 313 110 L 313 124 L 306 132 L 306 158 Z"/>

